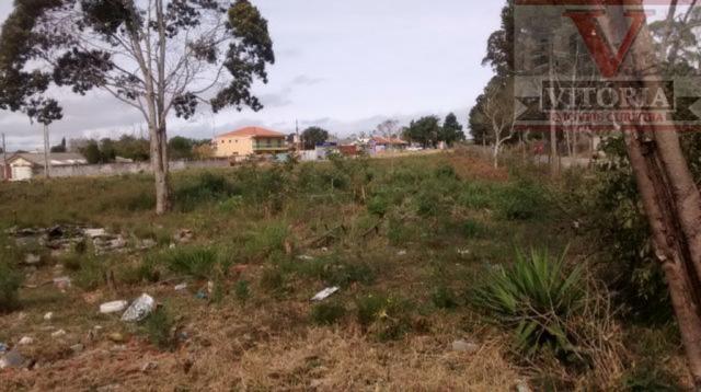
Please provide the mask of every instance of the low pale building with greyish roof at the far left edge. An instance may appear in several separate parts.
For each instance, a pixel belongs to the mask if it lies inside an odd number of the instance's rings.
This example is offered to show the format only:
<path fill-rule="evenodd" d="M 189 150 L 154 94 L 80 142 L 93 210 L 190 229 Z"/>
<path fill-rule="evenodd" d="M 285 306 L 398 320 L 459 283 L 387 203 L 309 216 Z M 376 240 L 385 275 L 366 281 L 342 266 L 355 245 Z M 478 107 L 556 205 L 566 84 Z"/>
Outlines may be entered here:
<path fill-rule="evenodd" d="M 80 153 L 51 152 L 51 168 L 85 165 L 88 161 Z M 10 181 L 32 180 L 44 174 L 44 152 L 16 152 L 8 158 L 5 173 Z"/>

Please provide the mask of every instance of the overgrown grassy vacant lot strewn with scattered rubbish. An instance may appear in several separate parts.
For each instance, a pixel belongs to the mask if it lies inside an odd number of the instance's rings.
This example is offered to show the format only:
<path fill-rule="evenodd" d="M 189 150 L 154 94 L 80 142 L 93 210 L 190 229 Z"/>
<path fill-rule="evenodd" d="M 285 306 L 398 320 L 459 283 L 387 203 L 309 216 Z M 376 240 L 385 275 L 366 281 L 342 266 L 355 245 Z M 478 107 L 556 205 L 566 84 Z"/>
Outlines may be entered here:
<path fill-rule="evenodd" d="M 562 349 L 548 330 L 537 343 L 555 348 L 533 355 L 508 320 L 473 303 L 517 250 L 556 260 L 568 245 L 566 270 L 595 262 L 565 180 L 456 152 L 191 171 L 174 184 L 165 217 L 152 214 L 146 175 L 0 184 L 1 263 L 23 277 L 0 315 L 0 343 L 23 364 L 0 370 L 0 389 L 685 384 L 674 325 L 621 325 L 614 309 L 586 307 L 596 321 L 577 324 L 596 338 L 565 325 L 564 339 L 584 348 Z M 595 280 L 578 283 L 607 308 Z M 310 301 L 327 287 L 338 291 Z M 142 322 L 99 312 L 141 293 L 159 303 Z M 641 366 L 651 361 L 652 373 Z"/>

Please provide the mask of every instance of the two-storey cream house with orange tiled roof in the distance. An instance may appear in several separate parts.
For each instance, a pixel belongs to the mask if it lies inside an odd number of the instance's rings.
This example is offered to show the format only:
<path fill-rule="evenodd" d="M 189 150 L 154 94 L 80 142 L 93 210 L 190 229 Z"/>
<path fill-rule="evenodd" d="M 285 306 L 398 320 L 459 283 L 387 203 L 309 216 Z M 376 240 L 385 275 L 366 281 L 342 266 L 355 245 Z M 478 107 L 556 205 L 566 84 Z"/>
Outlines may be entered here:
<path fill-rule="evenodd" d="M 245 127 L 215 138 L 219 158 L 276 154 L 288 151 L 285 134 L 261 127 Z"/>

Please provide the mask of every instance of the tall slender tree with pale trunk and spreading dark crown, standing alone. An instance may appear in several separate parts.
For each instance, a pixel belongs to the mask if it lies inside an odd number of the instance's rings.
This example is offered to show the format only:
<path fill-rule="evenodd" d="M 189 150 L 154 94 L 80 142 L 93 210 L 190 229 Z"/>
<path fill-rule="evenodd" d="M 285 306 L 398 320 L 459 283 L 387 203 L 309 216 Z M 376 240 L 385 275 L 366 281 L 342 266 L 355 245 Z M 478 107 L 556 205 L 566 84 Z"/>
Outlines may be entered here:
<path fill-rule="evenodd" d="M 0 108 L 47 125 L 51 84 L 102 89 L 148 124 L 156 209 L 171 208 L 168 119 L 262 108 L 252 93 L 274 64 L 267 21 L 249 0 L 15 0 L 0 34 Z"/>

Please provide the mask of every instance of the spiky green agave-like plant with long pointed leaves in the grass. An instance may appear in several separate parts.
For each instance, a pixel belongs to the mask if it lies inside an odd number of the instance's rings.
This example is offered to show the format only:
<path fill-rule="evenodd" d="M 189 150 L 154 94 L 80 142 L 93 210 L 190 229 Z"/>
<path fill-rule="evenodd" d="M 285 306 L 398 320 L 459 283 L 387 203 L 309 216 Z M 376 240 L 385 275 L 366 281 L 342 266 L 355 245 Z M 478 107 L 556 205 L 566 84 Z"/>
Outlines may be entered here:
<path fill-rule="evenodd" d="M 472 303 L 513 328 L 516 348 L 528 357 L 545 346 L 560 355 L 576 354 L 567 323 L 584 307 L 584 268 L 565 270 L 565 255 L 517 251 L 513 266 L 491 269 L 472 291 Z"/>

